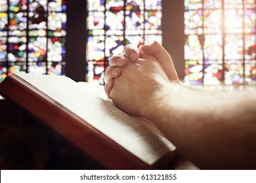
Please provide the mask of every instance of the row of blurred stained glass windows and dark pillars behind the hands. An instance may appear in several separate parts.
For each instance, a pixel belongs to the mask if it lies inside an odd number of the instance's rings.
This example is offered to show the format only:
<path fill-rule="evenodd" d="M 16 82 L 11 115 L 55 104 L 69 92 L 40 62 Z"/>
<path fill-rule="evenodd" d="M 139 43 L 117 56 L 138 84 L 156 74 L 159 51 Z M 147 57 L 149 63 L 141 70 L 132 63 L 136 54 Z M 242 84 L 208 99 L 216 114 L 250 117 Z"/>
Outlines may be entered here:
<path fill-rule="evenodd" d="M 158 41 L 188 84 L 255 86 L 255 8 L 255 0 L 0 0 L 0 80 L 23 72 L 104 84 L 125 44 Z"/>

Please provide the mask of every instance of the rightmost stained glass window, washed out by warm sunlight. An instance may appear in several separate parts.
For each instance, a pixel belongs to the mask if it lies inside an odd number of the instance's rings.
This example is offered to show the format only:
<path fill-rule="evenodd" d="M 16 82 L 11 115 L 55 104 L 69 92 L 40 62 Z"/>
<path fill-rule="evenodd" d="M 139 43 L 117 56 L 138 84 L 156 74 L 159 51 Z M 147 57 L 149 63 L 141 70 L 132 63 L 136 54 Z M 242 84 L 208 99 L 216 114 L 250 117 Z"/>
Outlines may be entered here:
<path fill-rule="evenodd" d="M 256 85 L 255 0 L 185 0 L 185 82 Z"/>

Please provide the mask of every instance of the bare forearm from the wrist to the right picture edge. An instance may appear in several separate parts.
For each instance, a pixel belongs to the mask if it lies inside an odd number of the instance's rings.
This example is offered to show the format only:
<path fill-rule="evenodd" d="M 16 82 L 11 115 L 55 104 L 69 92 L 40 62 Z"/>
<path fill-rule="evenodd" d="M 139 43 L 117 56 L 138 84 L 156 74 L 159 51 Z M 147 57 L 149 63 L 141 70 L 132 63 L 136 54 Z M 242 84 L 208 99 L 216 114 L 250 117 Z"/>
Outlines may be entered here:
<path fill-rule="evenodd" d="M 244 93 L 201 92 L 170 83 L 156 92 L 145 117 L 200 167 L 235 167 L 256 153 L 256 96 L 250 95 L 244 101 Z"/>

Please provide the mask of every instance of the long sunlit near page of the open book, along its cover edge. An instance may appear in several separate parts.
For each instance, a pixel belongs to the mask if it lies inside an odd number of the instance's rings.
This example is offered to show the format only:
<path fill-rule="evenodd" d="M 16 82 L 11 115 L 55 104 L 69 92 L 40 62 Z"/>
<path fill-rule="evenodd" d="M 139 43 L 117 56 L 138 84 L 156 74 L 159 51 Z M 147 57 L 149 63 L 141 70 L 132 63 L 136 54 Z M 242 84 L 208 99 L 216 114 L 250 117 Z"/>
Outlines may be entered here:
<path fill-rule="evenodd" d="M 148 165 L 176 149 L 167 139 L 70 78 L 18 76 L 51 97 L 52 103 L 70 110 Z"/>

